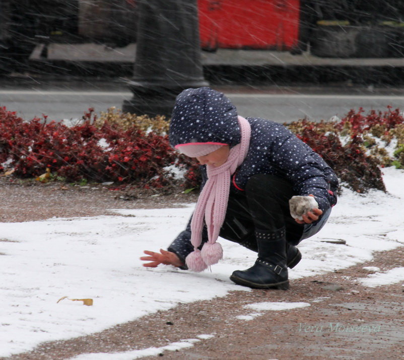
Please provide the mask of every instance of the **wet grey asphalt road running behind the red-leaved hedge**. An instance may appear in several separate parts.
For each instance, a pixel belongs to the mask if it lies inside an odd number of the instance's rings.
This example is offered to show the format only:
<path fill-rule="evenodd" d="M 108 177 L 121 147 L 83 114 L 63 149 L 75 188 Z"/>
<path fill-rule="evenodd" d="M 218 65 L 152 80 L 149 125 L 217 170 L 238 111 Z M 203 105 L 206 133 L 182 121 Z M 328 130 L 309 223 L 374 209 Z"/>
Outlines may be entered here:
<path fill-rule="evenodd" d="M 385 111 L 387 106 L 404 110 L 403 88 L 373 88 L 356 86 L 212 86 L 223 91 L 242 116 L 263 117 L 280 123 L 308 118 L 312 121 L 339 118 L 350 109 L 363 107 Z M 16 111 L 29 120 L 42 114 L 48 119 L 80 119 L 89 107 L 97 113 L 109 107 L 121 109 L 131 93 L 124 83 L 58 82 L 2 83 L 0 106 Z"/>

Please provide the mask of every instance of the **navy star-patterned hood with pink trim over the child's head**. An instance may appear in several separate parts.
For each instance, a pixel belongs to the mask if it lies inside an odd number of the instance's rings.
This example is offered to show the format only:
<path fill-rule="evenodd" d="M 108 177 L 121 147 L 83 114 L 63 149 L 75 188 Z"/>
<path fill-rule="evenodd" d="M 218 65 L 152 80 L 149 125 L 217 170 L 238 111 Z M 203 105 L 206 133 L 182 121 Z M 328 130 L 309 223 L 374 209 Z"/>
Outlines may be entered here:
<path fill-rule="evenodd" d="M 177 96 L 169 130 L 172 147 L 191 143 L 234 146 L 240 139 L 237 110 L 224 94 L 199 87 Z"/>

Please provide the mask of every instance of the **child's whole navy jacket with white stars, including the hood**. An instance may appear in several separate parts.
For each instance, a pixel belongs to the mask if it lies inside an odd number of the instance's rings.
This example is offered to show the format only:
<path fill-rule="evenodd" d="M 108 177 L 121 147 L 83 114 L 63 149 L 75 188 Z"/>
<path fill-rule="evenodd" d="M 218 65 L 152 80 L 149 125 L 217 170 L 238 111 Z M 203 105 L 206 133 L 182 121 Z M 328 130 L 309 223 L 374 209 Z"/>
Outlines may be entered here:
<path fill-rule="evenodd" d="M 323 212 L 336 204 L 338 178 L 320 155 L 281 124 L 260 118 L 246 119 L 251 126 L 249 150 L 232 175 L 230 196 L 244 191 L 252 175 L 264 173 L 285 178 L 296 195 L 314 195 Z M 240 142 L 236 108 L 222 93 L 209 87 L 187 89 L 177 97 L 169 138 L 172 146 L 195 142 L 234 146 Z M 206 167 L 201 166 L 201 171 L 206 178 Z M 203 238 L 207 240 L 206 232 Z M 189 240 L 190 222 L 168 250 L 184 260 L 193 250 Z"/>

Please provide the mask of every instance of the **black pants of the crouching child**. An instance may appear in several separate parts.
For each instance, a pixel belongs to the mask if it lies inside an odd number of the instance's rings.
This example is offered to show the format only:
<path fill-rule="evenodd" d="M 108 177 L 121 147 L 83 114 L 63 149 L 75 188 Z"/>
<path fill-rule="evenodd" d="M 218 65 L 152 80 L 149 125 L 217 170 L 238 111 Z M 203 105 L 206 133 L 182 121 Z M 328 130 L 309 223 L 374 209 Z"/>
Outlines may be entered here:
<path fill-rule="evenodd" d="M 286 228 L 286 240 L 297 245 L 304 225 L 290 215 L 289 199 L 297 195 L 284 179 L 266 174 L 252 176 L 241 194 L 229 196 L 220 236 L 257 251 L 255 231 Z"/>

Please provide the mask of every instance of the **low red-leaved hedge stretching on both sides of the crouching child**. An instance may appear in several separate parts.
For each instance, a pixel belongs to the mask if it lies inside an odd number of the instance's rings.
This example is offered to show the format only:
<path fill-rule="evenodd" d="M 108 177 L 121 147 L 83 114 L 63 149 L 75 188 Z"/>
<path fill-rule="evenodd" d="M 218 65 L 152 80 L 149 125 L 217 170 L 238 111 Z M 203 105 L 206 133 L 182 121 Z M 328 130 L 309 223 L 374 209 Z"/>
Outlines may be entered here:
<path fill-rule="evenodd" d="M 391 107 L 384 113 L 363 113 L 360 108 L 358 112 L 351 110 L 340 122 L 299 120 L 287 126 L 353 190 L 385 191 L 380 166 L 404 167 L 403 117 Z M 170 147 L 164 119 L 114 110 L 102 116 L 98 120 L 89 109 L 81 124 L 68 127 L 48 123 L 46 116 L 25 122 L 15 112 L 0 108 L 0 171 L 4 170 L 2 164 L 7 164 L 19 177 L 35 177 L 47 171 L 70 182 L 113 181 L 164 190 L 199 186 L 197 164 Z M 382 153 L 387 160 L 383 162 L 381 157 L 370 155 L 369 144 L 374 142 L 371 136 L 386 143 L 395 137 L 395 159 L 385 156 L 385 151 Z M 183 176 L 176 176 L 178 171 Z"/>

